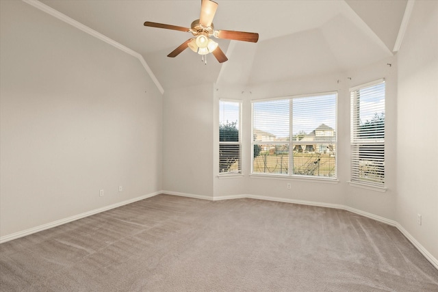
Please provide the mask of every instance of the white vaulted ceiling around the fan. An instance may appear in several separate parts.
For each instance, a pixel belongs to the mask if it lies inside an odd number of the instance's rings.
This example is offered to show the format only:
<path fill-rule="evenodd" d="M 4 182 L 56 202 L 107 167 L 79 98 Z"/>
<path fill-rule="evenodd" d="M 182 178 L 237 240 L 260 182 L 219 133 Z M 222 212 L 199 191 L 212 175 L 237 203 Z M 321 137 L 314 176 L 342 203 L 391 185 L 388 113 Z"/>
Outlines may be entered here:
<path fill-rule="evenodd" d="M 216 29 L 259 33 L 257 44 L 217 40 L 229 58 L 219 64 L 186 49 L 166 57 L 190 33 L 144 27 L 144 21 L 190 27 L 201 1 L 42 0 L 140 53 L 164 90 L 199 83 L 251 85 L 344 72 L 393 55 L 407 0 L 216 0 Z"/>

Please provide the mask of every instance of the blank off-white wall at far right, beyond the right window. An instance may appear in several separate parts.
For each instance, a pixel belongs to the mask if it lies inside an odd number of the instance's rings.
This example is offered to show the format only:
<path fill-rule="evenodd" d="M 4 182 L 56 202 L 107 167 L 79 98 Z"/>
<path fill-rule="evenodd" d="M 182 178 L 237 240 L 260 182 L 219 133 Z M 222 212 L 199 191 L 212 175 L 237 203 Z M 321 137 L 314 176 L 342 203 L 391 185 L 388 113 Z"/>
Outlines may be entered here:
<path fill-rule="evenodd" d="M 438 258 L 437 1 L 415 1 L 398 67 L 397 221 Z"/>

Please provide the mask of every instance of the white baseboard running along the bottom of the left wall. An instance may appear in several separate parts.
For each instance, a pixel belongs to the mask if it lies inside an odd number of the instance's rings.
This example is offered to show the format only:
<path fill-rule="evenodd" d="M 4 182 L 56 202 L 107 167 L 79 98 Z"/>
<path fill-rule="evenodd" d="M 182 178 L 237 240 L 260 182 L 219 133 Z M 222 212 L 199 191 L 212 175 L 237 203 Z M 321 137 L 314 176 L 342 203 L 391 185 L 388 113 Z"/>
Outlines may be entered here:
<path fill-rule="evenodd" d="M 94 215 L 94 214 L 97 214 L 97 213 L 101 213 L 101 212 L 108 211 L 108 210 L 111 210 L 111 209 L 114 209 L 114 208 L 117 208 L 117 207 L 121 207 L 121 206 L 123 206 L 125 204 L 131 204 L 131 203 L 137 202 L 139 200 L 144 200 L 146 198 L 151 198 L 153 196 L 157 196 L 158 194 L 162 194 L 162 191 L 155 191 L 154 193 L 151 193 L 151 194 L 147 194 L 147 195 L 140 196 L 140 197 L 137 197 L 137 198 L 125 200 L 123 202 L 118 202 L 116 204 L 111 204 L 109 206 L 105 206 L 105 207 L 102 207 L 102 208 L 99 208 L 99 209 L 94 209 L 94 210 L 91 210 L 91 211 L 88 211 L 88 212 L 84 212 L 84 213 L 81 213 L 81 214 L 78 214 L 78 215 L 73 215 L 71 217 L 66 217 L 64 219 L 56 220 L 56 221 L 53 221 L 53 222 L 50 222 L 50 223 L 47 223 L 47 224 L 43 224 L 43 225 L 40 225 L 40 226 L 29 228 L 29 229 L 26 229 L 26 230 L 23 230 L 23 231 L 18 231 L 18 233 L 12 233 L 10 235 L 5 235 L 5 236 L 0 237 L 0 243 L 6 242 L 6 241 L 11 241 L 11 240 L 14 240 L 14 239 L 18 239 L 20 237 L 25 237 L 26 235 L 31 235 L 33 233 L 38 233 L 38 232 L 40 232 L 42 230 L 47 230 L 49 228 L 60 226 L 62 224 L 66 224 L 68 222 L 73 222 L 75 220 L 82 219 L 84 217 L 88 217 L 88 216 L 91 216 L 91 215 Z"/>

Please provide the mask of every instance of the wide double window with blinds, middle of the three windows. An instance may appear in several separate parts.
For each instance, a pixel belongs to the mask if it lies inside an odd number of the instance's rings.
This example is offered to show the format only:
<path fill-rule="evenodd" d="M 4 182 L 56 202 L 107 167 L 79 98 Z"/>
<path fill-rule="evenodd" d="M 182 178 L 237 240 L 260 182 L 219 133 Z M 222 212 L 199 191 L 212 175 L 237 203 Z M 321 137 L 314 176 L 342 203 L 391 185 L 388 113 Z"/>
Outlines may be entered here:
<path fill-rule="evenodd" d="M 336 178 L 336 105 L 333 92 L 253 101 L 252 173 Z"/>

